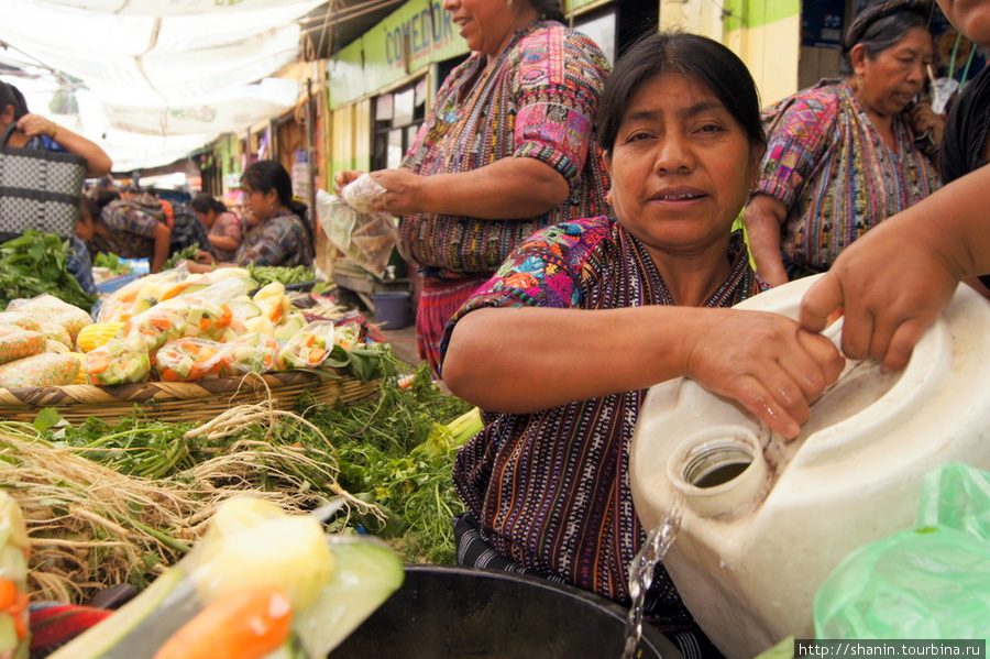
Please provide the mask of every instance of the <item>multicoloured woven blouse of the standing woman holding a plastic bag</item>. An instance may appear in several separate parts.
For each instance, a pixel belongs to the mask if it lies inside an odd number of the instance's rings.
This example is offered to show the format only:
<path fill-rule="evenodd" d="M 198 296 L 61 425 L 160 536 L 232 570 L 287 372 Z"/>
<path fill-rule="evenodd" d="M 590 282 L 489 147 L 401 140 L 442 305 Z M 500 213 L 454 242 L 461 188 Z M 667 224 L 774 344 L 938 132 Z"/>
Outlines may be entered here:
<path fill-rule="evenodd" d="M 517 32 L 492 73 L 479 78 L 484 65 L 485 58 L 474 53 L 451 72 L 403 166 L 431 175 L 531 157 L 560 172 L 571 196 L 529 219 L 403 217 L 402 249 L 427 268 L 427 276 L 493 273 L 537 229 L 607 212 L 607 175 L 593 140 L 598 96 L 609 70 L 598 46 L 561 23 L 537 21 Z"/>

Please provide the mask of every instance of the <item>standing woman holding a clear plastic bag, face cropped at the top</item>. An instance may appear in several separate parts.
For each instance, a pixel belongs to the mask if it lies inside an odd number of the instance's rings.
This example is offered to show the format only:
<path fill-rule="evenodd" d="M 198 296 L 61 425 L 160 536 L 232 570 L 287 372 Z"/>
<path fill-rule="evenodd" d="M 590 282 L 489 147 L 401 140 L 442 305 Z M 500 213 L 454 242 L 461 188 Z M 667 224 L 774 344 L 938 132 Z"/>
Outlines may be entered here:
<path fill-rule="evenodd" d="M 398 169 L 372 177 L 374 210 L 402 216 L 419 265 L 420 356 L 439 367 L 443 327 L 537 229 L 605 212 L 592 138 L 608 61 L 566 28 L 559 0 L 444 0 L 473 51 L 444 80 Z M 337 174 L 338 193 L 359 172 Z"/>

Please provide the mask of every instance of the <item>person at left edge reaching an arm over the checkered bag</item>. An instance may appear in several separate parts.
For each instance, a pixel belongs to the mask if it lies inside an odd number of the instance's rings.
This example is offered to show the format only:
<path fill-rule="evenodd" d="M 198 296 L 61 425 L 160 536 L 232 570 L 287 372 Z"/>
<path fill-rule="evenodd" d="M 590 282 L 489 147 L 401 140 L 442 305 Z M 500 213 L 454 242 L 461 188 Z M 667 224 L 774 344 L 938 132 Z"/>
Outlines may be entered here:
<path fill-rule="evenodd" d="M 110 173 L 112 161 L 95 142 L 28 111 L 24 95 L 13 85 L 0 81 L 0 135 L 11 124 L 16 130 L 9 146 L 63 151 L 86 158 L 86 176 L 97 178 Z"/>

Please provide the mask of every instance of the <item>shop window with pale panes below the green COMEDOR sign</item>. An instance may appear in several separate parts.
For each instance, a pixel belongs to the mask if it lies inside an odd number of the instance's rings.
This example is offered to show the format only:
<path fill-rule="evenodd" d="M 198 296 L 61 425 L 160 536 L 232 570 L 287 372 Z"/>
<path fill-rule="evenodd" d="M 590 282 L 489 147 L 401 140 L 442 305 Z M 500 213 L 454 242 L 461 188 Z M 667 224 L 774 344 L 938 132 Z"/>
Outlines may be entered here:
<path fill-rule="evenodd" d="M 426 117 L 426 78 L 375 98 L 372 168 L 398 167 Z"/>

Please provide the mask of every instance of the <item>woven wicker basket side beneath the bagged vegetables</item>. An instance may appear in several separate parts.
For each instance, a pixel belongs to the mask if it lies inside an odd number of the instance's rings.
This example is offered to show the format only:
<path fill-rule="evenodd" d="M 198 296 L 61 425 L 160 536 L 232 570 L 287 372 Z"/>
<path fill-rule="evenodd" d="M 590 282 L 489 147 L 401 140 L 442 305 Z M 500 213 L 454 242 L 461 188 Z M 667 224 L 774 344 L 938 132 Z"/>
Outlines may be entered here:
<path fill-rule="evenodd" d="M 290 409 L 305 393 L 316 403 L 332 404 L 367 398 L 377 388 L 377 381 L 320 377 L 304 371 L 199 382 L 0 388 L 0 417 L 31 422 L 43 408 L 55 407 L 74 425 L 91 416 L 112 425 L 131 416 L 136 405 L 148 418 L 197 421 L 212 419 L 235 405 L 256 404 L 268 397 L 279 409 Z"/>

